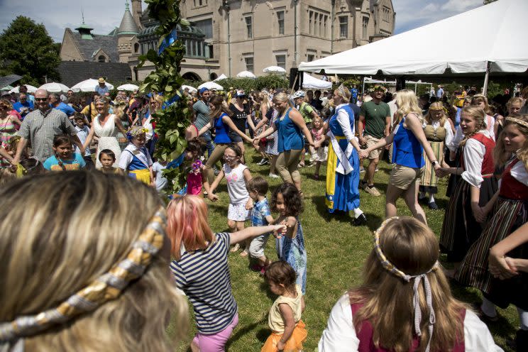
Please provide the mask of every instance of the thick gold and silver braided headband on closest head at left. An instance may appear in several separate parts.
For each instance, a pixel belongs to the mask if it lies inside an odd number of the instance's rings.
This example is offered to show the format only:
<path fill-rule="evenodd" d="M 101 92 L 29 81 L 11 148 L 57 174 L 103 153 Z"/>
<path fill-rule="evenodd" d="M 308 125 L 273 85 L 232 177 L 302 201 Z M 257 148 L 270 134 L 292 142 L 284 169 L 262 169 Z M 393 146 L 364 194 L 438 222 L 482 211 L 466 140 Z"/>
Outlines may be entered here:
<path fill-rule="evenodd" d="M 64 324 L 80 314 L 92 312 L 104 303 L 119 297 L 132 280 L 145 273 L 153 256 L 162 248 L 165 221 L 165 209 L 160 207 L 150 218 L 138 239 L 132 243 L 132 249 L 125 259 L 116 263 L 108 273 L 99 276 L 58 307 L 39 314 L 18 317 L 11 322 L 1 322 L 0 350 L 4 343 L 14 342 L 23 336 L 36 335 L 55 324 Z M 16 342 L 15 346 L 18 343 L 20 341 Z"/>

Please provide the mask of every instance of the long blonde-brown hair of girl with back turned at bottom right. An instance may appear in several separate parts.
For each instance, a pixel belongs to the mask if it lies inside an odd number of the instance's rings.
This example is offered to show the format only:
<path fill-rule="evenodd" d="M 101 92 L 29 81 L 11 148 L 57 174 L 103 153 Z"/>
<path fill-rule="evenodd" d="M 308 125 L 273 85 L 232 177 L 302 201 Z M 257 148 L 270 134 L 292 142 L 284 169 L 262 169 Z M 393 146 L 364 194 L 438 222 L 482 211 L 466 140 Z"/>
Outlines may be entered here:
<path fill-rule="evenodd" d="M 434 233 L 420 221 L 410 217 L 392 219 L 380 232 L 380 248 L 390 263 L 407 275 L 427 273 L 439 258 L 439 243 Z M 461 312 L 466 307 L 451 295 L 449 282 L 440 269 L 427 273 L 431 285 L 432 307 L 436 315 L 431 351 L 450 351 L 463 339 Z M 349 292 L 352 304 L 362 304 L 354 314 L 356 331 L 363 322 L 373 326 L 376 347 L 395 352 L 412 348 L 414 312 L 412 297 L 414 281 L 406 282 L 390 273 L 375 252 L 370 252 L 363 267 L 363 285 Z M 424 287 L 419 285 L 422 317 L 429 317 Z M 424 351 L 429 341 L 429 319 L 422 319 L 422 338 L 418 351 Z"/>

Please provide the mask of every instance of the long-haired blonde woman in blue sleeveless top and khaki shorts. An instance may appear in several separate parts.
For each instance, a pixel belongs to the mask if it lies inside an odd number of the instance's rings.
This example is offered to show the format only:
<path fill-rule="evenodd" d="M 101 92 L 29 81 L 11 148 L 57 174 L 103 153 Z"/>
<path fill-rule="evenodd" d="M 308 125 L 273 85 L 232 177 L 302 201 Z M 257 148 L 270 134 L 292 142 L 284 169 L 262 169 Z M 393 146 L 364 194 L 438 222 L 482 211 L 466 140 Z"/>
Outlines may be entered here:
<path fill-rule="evenodd" d="M 385 199 L 385 216 L 388 218 L 396 216 L 396 201 L 400 196 L 405 199 L 405 204 L 412 212 L 412 216 L 427 224 L 424 209 L 418 203 L 418 189 L 420 177 L 425 165 L 424 150 L 427 158 L 431 161 L 436 175 L 439 175 L 440 165 L 434 156 L 431 145 L 425 138 L 422 129 L 422 109 L 418 106 L 418 100 L 412 90 L 401 90 L 396 97 L 398 120 L 392 133 L 380 139 L 378 143 L 361 150 L 361 158 L 366 158 L 371 150 L 392 145 L 392 163 L 395 167 L 390 172 L 389 185 Z"/>

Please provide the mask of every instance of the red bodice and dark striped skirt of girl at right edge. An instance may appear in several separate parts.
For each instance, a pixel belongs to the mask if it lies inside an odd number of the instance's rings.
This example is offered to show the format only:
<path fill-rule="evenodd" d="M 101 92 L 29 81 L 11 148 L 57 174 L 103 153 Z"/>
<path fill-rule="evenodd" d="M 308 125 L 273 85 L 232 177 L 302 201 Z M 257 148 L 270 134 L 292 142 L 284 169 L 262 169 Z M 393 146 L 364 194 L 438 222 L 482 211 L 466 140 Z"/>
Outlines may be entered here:
<path fill-rule="evenodd" d="M 512 303 L 528 310 L 528 274 L 519 273 L 511 279 L 498 280 L 488 270 L 490 248 L 527 221 L 528 172 L 524 163 L 514 158 L 502 173 L 493 217 L 456 271 L 456 280 L 478 288 L 499 307 L 506 308 Z M 508 256 L 528 259 L 528 245 L 519 246 Z"/>

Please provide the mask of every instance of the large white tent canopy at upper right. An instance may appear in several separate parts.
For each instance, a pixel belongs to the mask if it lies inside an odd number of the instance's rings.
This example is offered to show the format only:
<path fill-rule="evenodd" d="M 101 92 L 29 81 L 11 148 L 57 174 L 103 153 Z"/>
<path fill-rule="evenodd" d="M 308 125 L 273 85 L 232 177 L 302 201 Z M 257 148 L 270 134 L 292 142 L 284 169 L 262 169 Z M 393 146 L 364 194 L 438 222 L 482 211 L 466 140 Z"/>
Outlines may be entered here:
<path fill-rule="evenodd" d="M 502 13 L 498 16 L 499 13 Z M 519 24 L 528 1 L 499 0 L 375 43 L 312 62 L 299 70 L 348 75 L 441 75 L 525 72 L 528 46 Z M 488 25 L 488 24 L 489 25 Z M 468 38 L 462 28 L 477 28 Z M 434 38 L 434 40 L 431 40 Z"/>

